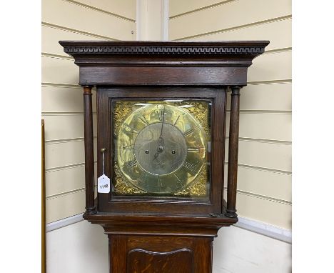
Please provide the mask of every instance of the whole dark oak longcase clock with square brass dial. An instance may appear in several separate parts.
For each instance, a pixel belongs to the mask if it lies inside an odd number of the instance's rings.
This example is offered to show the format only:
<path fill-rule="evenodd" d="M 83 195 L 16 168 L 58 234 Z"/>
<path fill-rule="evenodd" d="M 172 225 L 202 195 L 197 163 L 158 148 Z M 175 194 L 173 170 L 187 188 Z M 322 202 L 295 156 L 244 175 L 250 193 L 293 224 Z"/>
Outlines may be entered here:
<path fill-rule="evenodd" d="M 108 235 L 110 272 L 211 272 L 213 238 L 221 227 L 238 222 L 240 89 L 246 86 L 248 66 L 269 42 L 60 44 L 80 67 L 85 122 L 83 217 L 101 224 Z M 93 173 L 93 86 L 98 174 Z M 98 184 L 96 198 L 94 177 L 107 181 Z"/>

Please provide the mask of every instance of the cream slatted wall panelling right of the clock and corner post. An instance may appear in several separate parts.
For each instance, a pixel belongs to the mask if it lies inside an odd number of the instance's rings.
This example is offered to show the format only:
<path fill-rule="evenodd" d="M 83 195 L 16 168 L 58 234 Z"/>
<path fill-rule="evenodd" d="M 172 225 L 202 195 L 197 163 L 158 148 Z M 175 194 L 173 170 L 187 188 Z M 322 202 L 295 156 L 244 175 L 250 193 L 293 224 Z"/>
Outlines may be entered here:
<path fill-rule="evenodd" d="M 241 90 L 237 209 L 285 229 L 291 228 L 291 18 L 290 0 L 169 0 L 171 40 L 270 40 Z M 228 149 L 226 161 L 227 155 Z"/>

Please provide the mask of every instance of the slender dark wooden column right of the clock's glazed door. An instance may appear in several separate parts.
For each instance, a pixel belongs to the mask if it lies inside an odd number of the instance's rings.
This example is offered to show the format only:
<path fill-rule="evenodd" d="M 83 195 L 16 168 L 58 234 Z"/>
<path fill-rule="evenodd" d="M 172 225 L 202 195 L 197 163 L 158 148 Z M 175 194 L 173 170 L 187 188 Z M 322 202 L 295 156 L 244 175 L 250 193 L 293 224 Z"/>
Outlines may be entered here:
<path fill-rule="evenodd" d="M 232 86 L 230 135 L 228 139 L 228 193 L 227 193 L 227 217 L 237 217 L 236 214 L 236 190 L 238 174 L 238 144 L 239 144 L 239 109 L 240 86 Z"/>

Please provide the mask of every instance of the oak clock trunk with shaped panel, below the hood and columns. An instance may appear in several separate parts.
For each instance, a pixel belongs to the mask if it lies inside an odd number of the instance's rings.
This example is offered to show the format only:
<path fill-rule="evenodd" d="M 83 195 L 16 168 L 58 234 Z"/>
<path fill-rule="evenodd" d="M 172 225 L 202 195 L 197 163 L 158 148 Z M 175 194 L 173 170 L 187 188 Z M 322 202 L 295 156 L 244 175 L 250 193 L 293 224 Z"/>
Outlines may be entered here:
<path fill-rule="evenodd" d="M 211 273 L 218 229 L 238 222 L 223 215 L 84 214 L 108 235 L 110 273 Z"/>

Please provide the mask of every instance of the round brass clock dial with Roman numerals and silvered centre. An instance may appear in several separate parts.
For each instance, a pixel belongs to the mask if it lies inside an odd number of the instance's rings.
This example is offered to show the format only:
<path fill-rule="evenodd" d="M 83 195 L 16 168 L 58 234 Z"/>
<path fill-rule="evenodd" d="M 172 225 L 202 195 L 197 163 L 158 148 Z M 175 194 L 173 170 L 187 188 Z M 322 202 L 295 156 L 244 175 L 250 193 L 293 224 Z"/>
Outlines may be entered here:
<path fill-rule="evenodd" d="M 132 187 L 150 194 L 186 189 L 206 167 L 206 131 L 187 104 L 138 104 L 117 133 L 116 164 L 121 175 Z"/>

